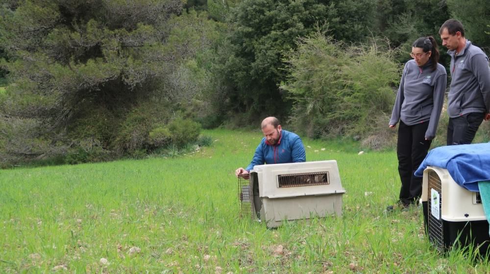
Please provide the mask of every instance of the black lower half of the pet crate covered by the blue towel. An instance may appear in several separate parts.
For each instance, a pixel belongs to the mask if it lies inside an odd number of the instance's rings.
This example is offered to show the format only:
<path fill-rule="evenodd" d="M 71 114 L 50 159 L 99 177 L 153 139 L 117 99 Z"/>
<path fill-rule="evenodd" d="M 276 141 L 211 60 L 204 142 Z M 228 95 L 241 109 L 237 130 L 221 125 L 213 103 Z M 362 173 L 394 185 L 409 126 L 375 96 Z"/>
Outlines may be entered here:
<path fill-rule="evenodd" d="M 489 257 L 490 235 L 489 222 L 487 220 L 469 222 L 449 222 L 442 220 L 442 241 L 440 241 L 441 239 L 434 239 L 433 235 L 429 235 L 428 219 L 430 213 L 426 201 L 422 202 L 422 208 L 425 234 L 429 237 L 430 242 L 435 244 L 436 248 L 441 251 L 448 251 L 454 245 L 466 247 L 472 244 L 473 247 L 478 247 L 481 256 Z M 437 246 L 438 242 L 442 242 L 442 246 Z"/>

